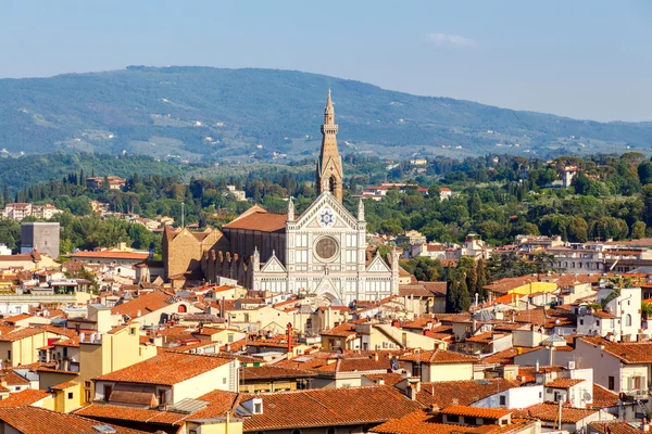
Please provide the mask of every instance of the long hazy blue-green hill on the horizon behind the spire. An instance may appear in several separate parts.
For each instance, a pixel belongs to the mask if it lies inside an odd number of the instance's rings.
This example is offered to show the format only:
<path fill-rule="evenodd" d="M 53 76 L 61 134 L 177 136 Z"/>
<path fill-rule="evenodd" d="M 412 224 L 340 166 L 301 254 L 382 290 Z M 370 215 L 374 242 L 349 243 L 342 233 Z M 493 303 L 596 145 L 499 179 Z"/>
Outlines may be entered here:
<path fill-rule="evenodd" d="M 281 163 L 316 154 L 329 87 L 342 153 L 551 156 L 652 146 L 652 123 L 575 120 L 293 71 L 130 66 L 1 79 L 0 148 Z"/>

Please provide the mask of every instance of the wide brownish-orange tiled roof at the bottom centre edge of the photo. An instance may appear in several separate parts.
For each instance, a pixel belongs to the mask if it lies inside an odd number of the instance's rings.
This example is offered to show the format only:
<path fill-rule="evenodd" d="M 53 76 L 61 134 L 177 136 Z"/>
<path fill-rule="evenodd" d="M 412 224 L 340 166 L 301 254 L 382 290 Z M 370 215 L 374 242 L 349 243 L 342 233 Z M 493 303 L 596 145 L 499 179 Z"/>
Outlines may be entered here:
<path fill-rule="evenodd" d="M 246 432 L 380 423 L 419 409 L 390 385 L 242 395 L 239 401 L 252 398 L 263 399 L 263 412 L 244 419 Z"/>

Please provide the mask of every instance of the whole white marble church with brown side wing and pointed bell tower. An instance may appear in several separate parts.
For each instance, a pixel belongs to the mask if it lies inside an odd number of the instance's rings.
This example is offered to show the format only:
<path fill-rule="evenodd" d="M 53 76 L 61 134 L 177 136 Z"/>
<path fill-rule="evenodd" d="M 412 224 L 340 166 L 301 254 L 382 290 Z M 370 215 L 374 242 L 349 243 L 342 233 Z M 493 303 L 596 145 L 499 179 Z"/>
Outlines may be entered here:
<path fill-rule="evenodd" d="M 364 203 L 360 201 L 356 215 L 342 205 L 344 178 L 337 132 L 329 91 L 316 163 L 317 199 L 301 215 L 296 215 L 290 199 L 287 214 L 253 206 L 225 225 L 228 251 L 204 251 L 205 280 L 226 277 L 253 290 L 312 294 L 338 304 L 398 294 L 397 253 L 369 255 Z"/>

